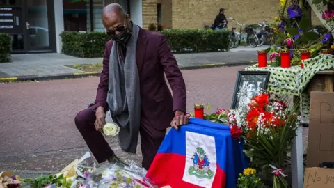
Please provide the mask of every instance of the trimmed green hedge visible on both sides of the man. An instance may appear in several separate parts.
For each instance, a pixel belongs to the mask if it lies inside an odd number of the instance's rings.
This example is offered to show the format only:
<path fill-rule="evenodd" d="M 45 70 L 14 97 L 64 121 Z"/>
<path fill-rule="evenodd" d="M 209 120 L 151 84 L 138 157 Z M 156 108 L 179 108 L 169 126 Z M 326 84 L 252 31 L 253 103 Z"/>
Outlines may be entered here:
<path fill-rule="evenodd" d="M 166 36 L 175 53 L 227 51 L 230 46 L 227 31 L 171 29 L 160 33 Z M 61 33 L 62 53 L 81 58 L 102 57 L 108 40 L 109 37 L 103 32 L 64 31 Z"/>

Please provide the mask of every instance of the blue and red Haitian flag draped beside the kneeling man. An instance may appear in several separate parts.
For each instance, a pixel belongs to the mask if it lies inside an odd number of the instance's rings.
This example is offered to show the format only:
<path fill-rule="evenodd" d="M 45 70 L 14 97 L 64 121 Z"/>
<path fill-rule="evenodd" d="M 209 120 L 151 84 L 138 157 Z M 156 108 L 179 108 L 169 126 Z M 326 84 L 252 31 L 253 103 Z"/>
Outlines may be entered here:
<path fill-rule="evenodd" d="M 146 178 L 159 187 L 235 187 L 248 162 L 230 126 L 190 118 L 171 129 L 155 156 Z"/>

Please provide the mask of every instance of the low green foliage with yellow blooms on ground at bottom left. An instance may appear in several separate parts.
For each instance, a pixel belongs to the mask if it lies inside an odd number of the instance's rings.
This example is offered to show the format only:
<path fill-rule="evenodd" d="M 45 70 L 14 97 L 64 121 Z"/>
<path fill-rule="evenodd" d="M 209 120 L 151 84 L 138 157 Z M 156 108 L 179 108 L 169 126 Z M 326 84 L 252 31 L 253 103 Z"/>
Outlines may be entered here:
<path fill-rule="evenodd" d="M 67 180 L 64 175 L 40 175 L 35 179 L 23 179 L 23 182 L 29 183 L 31 188 L 45 187 L 46 185 L 56 184 L 56 187 L 70 188 L 72 181 Z"/>

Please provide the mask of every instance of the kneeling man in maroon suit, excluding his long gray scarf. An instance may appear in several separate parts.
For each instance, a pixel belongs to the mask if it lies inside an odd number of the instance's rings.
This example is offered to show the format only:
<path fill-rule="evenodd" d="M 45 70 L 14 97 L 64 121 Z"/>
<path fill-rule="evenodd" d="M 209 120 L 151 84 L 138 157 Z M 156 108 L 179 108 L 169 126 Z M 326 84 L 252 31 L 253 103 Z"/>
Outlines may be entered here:
<path fill-rule="evenodd" d="M 133 23 L 129 15 L 118 4 L 110 4 L 104 8 L 102 21 L 107 34 L 113 40 L 106 42 L 103 56 L 103 70 L 100 84 L 97 88 L 95 104 L 80 111 L 75 123 L 81 132 L 88 148 L 97 162 L 119 161 L 109 144 L 102 136 L 105 125 L 106 109 L 108 109 L 107 94 L 109 91 L 109 56 L 113 45 L 120 45 L 120 56 L 124 58 L 127 50 L 127 40 Z M 130 33 L 130 34 L 129 34 Z M 166 37 L 160 33 L 139 29 L 136 43 L 136 65 L 141 94 L 140 134 L 143 154 L 142 166 L 150 167 L 161 142 L 166 134 L 166 128 L 188 123 L 186 112 L 186 86 L 177 61 L 167 44 Z M 164 75 L 173 91 L 173 97 L 166 84 Z M 93 110 L 96 109 L 94 113 Z"/>

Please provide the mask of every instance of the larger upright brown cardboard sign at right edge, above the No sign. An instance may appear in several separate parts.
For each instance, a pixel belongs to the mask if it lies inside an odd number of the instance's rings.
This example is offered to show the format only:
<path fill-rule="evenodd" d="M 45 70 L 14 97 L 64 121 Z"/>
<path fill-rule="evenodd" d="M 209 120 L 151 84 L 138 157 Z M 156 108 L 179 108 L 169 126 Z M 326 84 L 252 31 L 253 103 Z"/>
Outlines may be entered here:
<path fill-rule="evenodd" d="M 322 162 L 334 162 L 333 92 L 311 93 L 306 167 L 319 166 Z"/>

